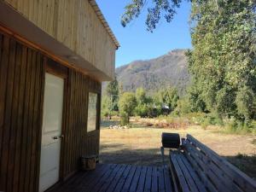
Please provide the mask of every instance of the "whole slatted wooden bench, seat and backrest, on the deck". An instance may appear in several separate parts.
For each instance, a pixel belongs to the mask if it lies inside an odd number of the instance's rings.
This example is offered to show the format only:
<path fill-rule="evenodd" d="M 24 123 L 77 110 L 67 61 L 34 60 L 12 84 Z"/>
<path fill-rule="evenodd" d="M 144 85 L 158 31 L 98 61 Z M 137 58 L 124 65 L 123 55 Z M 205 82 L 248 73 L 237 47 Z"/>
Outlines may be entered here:
<path fill-rule="evenodd" d="M 190 135 L 170 150 L 170 168 L 177 191 L 256 192 L 251 177 Z"/>

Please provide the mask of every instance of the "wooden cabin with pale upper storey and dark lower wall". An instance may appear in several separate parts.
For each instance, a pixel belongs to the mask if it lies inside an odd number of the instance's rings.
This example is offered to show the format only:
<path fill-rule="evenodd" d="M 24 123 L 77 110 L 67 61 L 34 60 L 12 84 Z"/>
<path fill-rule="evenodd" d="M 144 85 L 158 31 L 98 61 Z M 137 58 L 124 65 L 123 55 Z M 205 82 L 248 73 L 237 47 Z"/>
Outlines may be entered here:
<path fill-rule="evenodd" d="M 42 192 L 99 153 L 118 47 L 94 0 L 0 1 L 0 191 Z"/>

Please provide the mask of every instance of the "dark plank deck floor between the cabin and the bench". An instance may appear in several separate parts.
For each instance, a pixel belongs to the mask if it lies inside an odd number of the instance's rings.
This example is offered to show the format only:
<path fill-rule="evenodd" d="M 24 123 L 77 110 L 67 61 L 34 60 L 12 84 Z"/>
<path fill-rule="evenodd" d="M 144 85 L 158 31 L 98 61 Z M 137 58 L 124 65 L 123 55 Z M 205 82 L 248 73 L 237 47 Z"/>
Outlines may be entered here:
<path fill-rule="evenodd" d="M 172 192 L 167 167 L 98 164 L 48 192 Z"/>

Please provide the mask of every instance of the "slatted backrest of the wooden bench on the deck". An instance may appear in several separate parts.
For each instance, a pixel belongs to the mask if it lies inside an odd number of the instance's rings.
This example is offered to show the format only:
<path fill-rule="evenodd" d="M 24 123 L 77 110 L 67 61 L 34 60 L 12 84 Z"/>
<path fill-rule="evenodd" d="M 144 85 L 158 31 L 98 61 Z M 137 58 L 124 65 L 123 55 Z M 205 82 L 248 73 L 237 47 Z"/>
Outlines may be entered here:
<path fill-rule="evenodd" d="M 187 135 L 184 154 L 210 191 L 256 192 L 256 182 L 212 149 Z"/>

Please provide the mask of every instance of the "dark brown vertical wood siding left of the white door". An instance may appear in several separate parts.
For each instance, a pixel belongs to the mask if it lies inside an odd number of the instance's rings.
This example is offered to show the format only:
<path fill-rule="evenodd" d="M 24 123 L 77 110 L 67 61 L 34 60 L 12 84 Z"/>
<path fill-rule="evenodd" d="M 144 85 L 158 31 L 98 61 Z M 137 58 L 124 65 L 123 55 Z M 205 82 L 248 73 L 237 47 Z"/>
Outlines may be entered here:
<path fill-rule="evenodd" d="M 43 55 L 0 34 L 0 191 L 35 191 Z"/>

